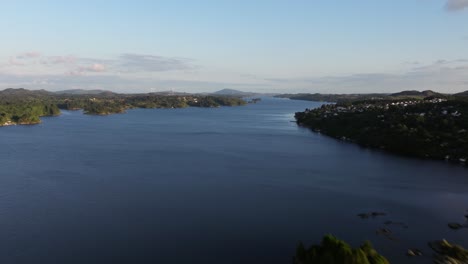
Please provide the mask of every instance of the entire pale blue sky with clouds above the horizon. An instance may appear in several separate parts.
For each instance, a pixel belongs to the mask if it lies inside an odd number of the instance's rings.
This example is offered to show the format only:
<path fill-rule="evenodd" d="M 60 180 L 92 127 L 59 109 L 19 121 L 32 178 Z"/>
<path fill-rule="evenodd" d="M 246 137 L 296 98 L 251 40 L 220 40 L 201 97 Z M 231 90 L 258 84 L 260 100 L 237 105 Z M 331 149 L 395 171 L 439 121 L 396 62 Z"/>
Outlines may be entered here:
<path fill-rule="evenodd" d="M 1 0 L 0 36 L 0 89 L 468 90 L 468 0 Z"/>

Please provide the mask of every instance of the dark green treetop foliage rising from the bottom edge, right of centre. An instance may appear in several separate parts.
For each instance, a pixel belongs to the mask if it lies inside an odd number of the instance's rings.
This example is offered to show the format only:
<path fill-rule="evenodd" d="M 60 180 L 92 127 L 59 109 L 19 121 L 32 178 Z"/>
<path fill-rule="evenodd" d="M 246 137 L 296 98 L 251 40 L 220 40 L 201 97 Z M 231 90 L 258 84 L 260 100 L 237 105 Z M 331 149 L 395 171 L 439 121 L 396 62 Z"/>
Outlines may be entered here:
<path fill-rule="evenodd" d="M 299 243 L 294 264 L 388 264 L 369 241 L 359 248 L 352 248 L 346 242 L 332 235 L 326 235 L 320 245 L 306 249 Z"/>

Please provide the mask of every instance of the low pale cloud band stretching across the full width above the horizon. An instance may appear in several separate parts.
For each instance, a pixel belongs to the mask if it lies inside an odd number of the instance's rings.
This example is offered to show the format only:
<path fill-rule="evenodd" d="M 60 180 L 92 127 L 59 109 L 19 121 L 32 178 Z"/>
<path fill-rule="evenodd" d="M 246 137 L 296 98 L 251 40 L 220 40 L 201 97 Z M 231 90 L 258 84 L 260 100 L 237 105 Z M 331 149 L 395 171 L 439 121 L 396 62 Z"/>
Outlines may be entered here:
<path fill-rule="evenodd" d="M 408 60 L 399 73 L 361 72 L 344 76 L 265 78 L 261 75 L 212 72 L 190 59 L 125 53 L 114 58 L 18 54 L 0 65 L 0 89 L 108 89 L 145 92 L 176 89 L 210 91 L 222 88 L 270 92 L 372 93 L 401 90 L 468 90 L 468 60 L 432 63 Z M 196 71 L 192 71 L 197 69 Z M 223 75 L 224 74 L 224 75 Z"/>

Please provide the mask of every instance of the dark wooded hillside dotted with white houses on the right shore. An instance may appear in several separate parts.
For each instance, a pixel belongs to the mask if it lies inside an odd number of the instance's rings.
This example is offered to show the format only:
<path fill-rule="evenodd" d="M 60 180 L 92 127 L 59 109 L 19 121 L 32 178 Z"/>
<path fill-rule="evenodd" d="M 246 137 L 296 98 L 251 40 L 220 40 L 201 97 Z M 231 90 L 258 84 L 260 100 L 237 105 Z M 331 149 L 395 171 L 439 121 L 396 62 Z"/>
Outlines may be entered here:
<path fill-rule="evenodd" d="M 466 163 L 468 97 L 400 94 L 338 100 L 297 112 L 299 125 L 365 147 Z"/>

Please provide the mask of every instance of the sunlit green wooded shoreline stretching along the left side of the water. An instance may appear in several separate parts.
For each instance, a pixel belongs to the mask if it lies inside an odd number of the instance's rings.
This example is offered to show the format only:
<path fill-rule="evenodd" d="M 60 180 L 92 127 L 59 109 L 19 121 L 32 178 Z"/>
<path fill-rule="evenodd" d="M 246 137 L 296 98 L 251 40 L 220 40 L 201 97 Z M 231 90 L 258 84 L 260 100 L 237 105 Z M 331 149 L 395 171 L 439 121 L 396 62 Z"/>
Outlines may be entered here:
<path fill-rule="evenodd" d="M 29 125 L 42 116 L 56 116 L 63 110 L 83 110 L 84 114 L 109 115 L 132 108 L 183 108 L 241 106 L 237 96 L 195 94 L 117 94 L 112 92 L 66 93 L 45 90 L 5 89 L 0 91 L 0 126 Z"/>

